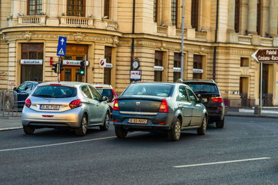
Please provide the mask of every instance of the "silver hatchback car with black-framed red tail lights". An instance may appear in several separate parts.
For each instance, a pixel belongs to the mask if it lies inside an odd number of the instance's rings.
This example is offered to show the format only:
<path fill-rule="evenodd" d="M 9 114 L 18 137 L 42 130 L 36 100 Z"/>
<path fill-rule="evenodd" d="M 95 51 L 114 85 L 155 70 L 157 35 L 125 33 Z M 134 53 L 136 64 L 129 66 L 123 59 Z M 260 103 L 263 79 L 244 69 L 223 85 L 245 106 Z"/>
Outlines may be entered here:
<path fill-rule="evenodd" d="M 28 96 L 22 110 L 26 134 L 42 127 L 69 127 L 84 136 L 90 127 L 108 130 L 108 98 L 82 82 L 44 82 Z"/>

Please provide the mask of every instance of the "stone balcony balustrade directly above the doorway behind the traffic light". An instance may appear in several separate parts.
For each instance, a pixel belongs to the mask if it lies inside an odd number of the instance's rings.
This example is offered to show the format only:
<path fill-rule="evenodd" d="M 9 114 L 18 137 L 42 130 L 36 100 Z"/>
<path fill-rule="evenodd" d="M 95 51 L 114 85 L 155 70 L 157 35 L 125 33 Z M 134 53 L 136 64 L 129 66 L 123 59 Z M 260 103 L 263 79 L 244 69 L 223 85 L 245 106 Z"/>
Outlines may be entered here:
<path fill-rule="evenodd" d="M 92 17 L 60 17 L 60 26 L 94 28 L 94 19 Z"/>

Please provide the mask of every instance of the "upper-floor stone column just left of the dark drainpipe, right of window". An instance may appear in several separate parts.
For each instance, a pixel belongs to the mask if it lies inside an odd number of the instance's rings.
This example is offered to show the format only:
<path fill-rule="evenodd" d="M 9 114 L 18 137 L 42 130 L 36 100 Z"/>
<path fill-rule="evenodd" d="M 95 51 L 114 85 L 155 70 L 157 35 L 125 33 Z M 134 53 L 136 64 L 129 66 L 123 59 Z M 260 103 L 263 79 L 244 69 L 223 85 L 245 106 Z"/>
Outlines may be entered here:
<path fill-rule="evenodd" d="M 202 0 L 202 30 L 211 29 L 211 0 Z"/>

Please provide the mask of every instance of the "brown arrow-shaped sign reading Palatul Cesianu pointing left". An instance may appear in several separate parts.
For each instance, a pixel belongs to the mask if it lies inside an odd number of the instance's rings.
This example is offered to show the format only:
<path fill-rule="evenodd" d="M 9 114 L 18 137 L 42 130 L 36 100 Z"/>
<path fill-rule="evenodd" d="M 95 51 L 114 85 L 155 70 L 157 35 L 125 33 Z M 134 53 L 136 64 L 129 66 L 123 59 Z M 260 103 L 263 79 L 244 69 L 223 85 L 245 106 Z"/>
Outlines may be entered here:
<path fill-rule="evenodd" d="M 256 62 L 275 63 L 278 62 L 278 49 L 258 49 L 252 54 Z"/>

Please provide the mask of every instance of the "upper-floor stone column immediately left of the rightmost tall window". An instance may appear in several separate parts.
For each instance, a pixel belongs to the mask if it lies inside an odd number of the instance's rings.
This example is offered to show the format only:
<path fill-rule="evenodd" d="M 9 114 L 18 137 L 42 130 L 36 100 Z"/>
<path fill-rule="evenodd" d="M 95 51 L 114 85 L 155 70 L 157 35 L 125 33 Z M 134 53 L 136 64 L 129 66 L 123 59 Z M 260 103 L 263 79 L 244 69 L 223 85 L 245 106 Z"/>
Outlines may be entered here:
<path fill-rule="evenodd" d="M 256 9 L 257 0 L 250 0 L 248 3 L 248 28 L 247 33 L 257 35 L 256 33 Z"/>

